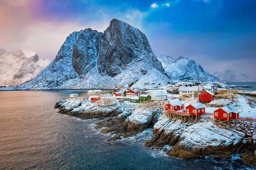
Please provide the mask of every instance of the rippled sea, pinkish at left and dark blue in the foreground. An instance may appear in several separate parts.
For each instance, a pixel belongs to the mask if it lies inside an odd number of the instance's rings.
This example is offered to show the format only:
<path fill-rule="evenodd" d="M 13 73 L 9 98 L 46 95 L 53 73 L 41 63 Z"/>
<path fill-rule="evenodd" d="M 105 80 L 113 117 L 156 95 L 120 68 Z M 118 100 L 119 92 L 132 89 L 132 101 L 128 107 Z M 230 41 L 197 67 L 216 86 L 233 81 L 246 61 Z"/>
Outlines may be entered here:
<path fill-rule="evenodd" d="M 233 156 L 183 160 L 143 147 L 145 135 L 107 143 L 93 122 L 61 115 L 55 102 L 79 90 L 0 91 L 0 170 L 252 169 Z M 151 134 L 151 130 L 146 130 Z M 147 133 L 143 133 L 147 134 Z"/>

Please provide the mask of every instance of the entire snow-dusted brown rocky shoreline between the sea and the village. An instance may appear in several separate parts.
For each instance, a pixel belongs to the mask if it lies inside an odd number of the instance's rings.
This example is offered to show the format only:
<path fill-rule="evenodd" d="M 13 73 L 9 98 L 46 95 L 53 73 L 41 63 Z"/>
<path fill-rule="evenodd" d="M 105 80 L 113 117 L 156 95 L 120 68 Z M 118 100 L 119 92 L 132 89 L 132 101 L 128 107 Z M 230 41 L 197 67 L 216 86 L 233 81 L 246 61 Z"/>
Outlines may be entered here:
<path fill-rule="evenodd" d="M 59 113 L 81 119 L 99 119 L 95 129 L 112 135 L 108 141 L 135 136 L 153 127 L 153 137 L 145 147 L 159 149 L 181 159 L 218 156 L 230 158 L 244 153 L 242 161 L 256 167 L 256 123 L 233 120 L 230 127 L 214 125 L 211 116 L 202 116 L 198 122 L 184 123 L 169 119 L 159 108 L 161 104 L 119 103 L 106 98 L 90 102 L 82 98 L 69 98 L 57 102 Z M 154 105 L 153 105 L 154 104 Z"/>

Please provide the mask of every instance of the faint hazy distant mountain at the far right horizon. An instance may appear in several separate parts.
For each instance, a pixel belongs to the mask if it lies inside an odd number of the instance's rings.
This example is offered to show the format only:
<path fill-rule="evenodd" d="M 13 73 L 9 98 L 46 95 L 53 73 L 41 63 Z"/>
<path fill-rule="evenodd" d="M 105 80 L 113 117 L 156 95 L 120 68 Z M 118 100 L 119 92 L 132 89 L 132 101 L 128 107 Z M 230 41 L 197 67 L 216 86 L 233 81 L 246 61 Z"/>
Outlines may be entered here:
<path fill-rule="evenodd" d="M 215 71 L 213 75 L 226 82 L 256 82 L 255 76 L 232 70 Z"/>

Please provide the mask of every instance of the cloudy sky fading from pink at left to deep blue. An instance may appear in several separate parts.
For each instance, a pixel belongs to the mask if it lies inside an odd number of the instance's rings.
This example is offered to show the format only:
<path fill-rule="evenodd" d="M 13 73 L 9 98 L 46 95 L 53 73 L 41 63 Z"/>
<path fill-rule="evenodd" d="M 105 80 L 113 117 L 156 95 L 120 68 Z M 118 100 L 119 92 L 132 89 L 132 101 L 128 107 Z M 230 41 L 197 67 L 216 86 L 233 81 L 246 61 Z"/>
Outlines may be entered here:
<path fill-rule="evenodd" d="M 0 48 L 53 60 L 73 31 L 104 32 L 116 18 L 140 29 L 155 55 L 255 74 L 255 9 L 255 0 L 0 0 Z"/>

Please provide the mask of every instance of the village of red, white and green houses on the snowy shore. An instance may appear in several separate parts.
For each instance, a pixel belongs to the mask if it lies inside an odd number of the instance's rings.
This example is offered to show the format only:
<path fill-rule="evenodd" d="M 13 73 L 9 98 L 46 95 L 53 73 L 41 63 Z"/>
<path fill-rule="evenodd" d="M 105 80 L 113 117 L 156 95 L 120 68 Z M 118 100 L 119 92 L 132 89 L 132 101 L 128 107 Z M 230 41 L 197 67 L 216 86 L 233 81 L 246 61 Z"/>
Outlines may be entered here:
<path fill-rule="evenodd" d="M 233 119 L 256 121 L 250 115 L 240 115 L 239 109 L 230 103 L 238 95 L 245 96 L 244 90 L 219 89 L 218 91 L 199 90 L 197 85 L 175 85 L 172 89 L 151 89 L 147 91 L 139 89 L 126 89 L 119 87 L 116 91 L 89 90 L 80 96 L 87 97 L 91 102 L 99 101 L 106 97 L 116 99 L 123 103 L 137 105 L 150 102 L 161 102 L 160 108 L 170 119 L 180 119 L 183 122 L 196 122 L 202 115 L 214 118 L 215 125 L 229 126 Z M 70 97 L 78 97 L 79 94 L 70 94 Z M 216 102 L 222 102 L 221 105 Z M 215 103 L 214 103 L 215 102 Z M 219 106 L 219 107 L 209 107 Z M 250 111 L 249 111 L 250 112 Z"/>

